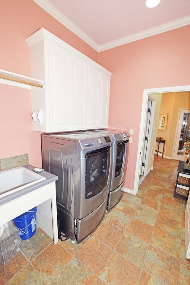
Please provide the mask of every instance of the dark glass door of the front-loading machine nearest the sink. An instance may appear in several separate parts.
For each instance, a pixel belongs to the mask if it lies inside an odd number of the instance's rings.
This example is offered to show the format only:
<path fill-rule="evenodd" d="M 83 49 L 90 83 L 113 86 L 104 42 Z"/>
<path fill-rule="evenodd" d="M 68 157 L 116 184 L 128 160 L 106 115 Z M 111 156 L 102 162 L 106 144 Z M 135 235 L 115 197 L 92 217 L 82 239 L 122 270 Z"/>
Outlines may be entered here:
<path fill-rule="evenodd" d="M 86 154 L 85 198 L 99 194 L 109 183 L 110 147 Z"/>

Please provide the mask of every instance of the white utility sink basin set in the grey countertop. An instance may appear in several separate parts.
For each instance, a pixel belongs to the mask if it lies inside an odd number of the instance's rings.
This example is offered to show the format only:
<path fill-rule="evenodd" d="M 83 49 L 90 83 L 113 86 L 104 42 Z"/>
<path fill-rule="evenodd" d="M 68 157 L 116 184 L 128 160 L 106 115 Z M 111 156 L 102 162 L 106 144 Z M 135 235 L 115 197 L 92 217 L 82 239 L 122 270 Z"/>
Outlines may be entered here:
<path fill-rule="evenodd" d="M 0 171 L 0 198 L 45 179 L 23 166 Z"/>

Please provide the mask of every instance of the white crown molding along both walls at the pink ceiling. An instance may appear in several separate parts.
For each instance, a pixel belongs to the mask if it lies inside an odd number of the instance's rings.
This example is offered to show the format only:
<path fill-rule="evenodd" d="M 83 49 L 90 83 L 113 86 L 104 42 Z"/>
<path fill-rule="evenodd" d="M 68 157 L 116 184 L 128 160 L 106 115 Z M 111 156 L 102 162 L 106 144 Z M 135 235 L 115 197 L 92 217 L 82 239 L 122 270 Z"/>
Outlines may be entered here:
<path fill-rule="evenodd" d="M 58 20 L 62 25 L 64 25 L 67 29 L 72 31 L 75 35 L 80 37 L 84 42 L 90 45 L 94 50 L 100 52 L 103 50 L 108 50 L 113 47 L 118 47 L 120 45 L 125 45 L 129 42 L 134 42 L 139 39 L 144 39 L 146 37 L 151 37 L 156 34 L 161 34 L 166 31 L 170 31 L 173 29 L 177 29 L 190 24 L 190 15 L 179 18 L 177 20 L 173 20 L 171 22 L 153 27 L 151 29 L 147 29 L 145 31 L 129 35 L 127 37 L 123 37 L 121 39 L 117 39 L 112 42 L 108 42 L 103 45 L 98 45 L 93 39 L 91 39 L 87 34 L 85 34 L 81 29 L 79 29 L 71 20 L 69 20 L 63 13 L 61 13 L 53 4 L 51 4 L 48 0 L 33 0 L 38 6 L 40 6 L 43 10 L 45 10 L 48 14 L 50 14 L 53 18 Z"/>

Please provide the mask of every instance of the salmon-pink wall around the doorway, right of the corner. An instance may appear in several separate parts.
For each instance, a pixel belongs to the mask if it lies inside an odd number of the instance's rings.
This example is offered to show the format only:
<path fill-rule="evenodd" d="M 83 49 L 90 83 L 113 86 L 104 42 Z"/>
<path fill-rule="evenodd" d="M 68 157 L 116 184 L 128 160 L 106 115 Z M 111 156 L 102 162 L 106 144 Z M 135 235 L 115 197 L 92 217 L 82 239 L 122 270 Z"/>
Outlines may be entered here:
<path fill-rule="evenodd" d="M 133 189 L 143 90 L 190 85 L 190 25 L 99 53 L 113 73 L 109 125 L 134 129 L 124 187 Z"/>

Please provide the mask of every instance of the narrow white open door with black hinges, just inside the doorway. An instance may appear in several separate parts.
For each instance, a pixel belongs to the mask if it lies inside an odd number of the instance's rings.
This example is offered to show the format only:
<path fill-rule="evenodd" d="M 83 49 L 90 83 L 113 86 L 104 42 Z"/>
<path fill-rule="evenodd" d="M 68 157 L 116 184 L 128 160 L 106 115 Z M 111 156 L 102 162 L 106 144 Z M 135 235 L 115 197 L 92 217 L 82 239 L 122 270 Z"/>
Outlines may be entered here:
<path fill-rule="evenodd" d="M 145 138 L 143 141 L 143 149 L 141 155 L 141 164 L 140 164 L 140 176 L 144 174 L 144 166 L 145 166 L 145 159 L 146 159 L 146 152 L 147 152 L 147 142 L 148 142 L 148 133 L 149 133 L 149 126 L 150 126 L 150 118 L 151 118 L 151 106 L 152 101 L 148 99 L 148 110 L 145 122 Z"/>

